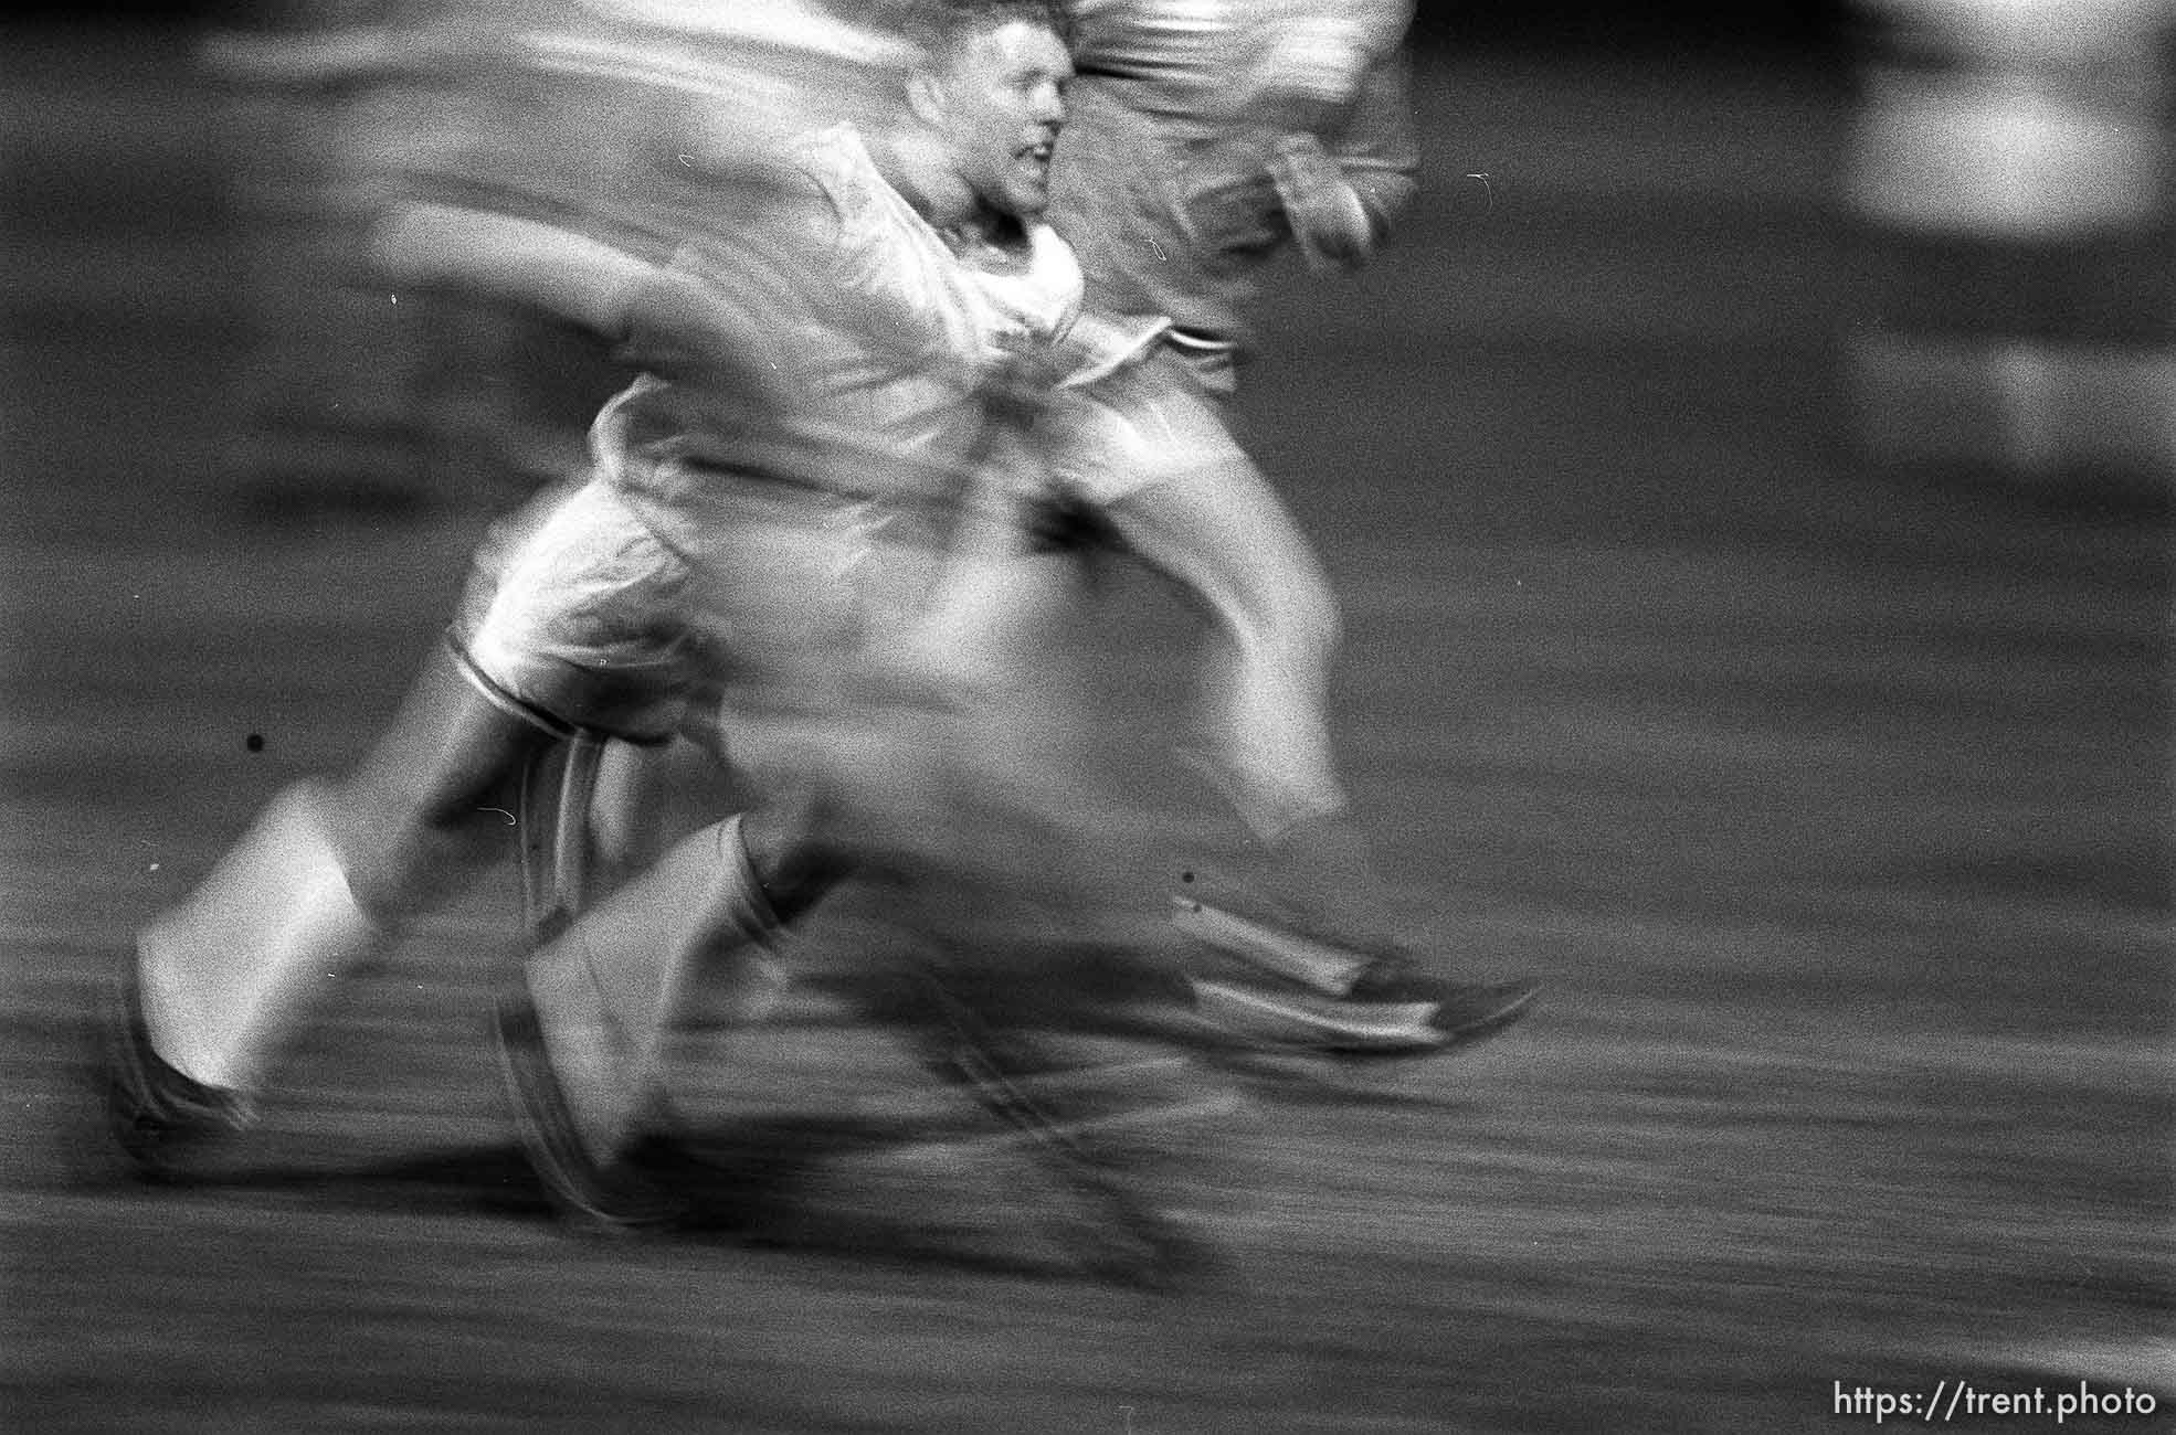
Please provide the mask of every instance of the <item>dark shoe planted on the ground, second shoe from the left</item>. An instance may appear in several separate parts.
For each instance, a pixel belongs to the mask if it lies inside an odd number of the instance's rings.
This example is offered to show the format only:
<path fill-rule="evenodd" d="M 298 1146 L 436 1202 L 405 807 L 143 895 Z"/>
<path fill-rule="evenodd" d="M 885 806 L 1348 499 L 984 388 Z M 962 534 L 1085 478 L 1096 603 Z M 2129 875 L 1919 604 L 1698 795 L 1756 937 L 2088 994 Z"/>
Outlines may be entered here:
<path fill-rule="evenodd" d="M 553 1209 L 577 1231 L 596 1235 L 640 1235 L 688 1224 L 694 1200 L 672 1189 L 662 1174 L 672 1163 L 657 1159 L 653 1137 L 609 1159 L 594 1157 L 583 1144 L 544 1048 L 535 1002 L 527 994 L 500 998 L 494 1026 L 514 1124 Z"/>

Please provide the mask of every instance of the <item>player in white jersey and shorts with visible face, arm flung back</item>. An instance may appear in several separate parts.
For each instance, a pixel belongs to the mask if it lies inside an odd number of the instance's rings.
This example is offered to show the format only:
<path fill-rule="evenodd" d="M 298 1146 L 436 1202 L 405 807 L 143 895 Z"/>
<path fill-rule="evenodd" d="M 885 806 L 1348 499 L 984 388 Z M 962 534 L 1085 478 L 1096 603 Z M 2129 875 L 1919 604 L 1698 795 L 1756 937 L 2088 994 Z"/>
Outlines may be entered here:
<path fill-rule="evenodd" d="M 498 854 L 503 809 L 551 750 L 683 728 L 720 652 L 801 691 L 851 665 L 870 504 L 949 487 L 970 396 L 1077 311 L 1071 250 L 1023 224 L 1066 72 L 1038 7 L 975 7 L 894 130 L 825 130 L 740 176 L 720 228 L 666 272 L 503 215 L 394 226 L 400 263 L 618 328 L 646 372 L 598 417 L 590 483 L 479 583 L 363 763 L 281 794 L 139 935 L 109 1061 L 111 1126 L 139 1168 L 248 1120 L 329 985 Z M 990 272 L 964 283 L 955 250 Z M 809 831 L 788 850 L 820 865 Z M 714 839 L 742 872 L 740 824 Z M 794 870 L 770 863 L 744 898 L 790 913 Z"/>

